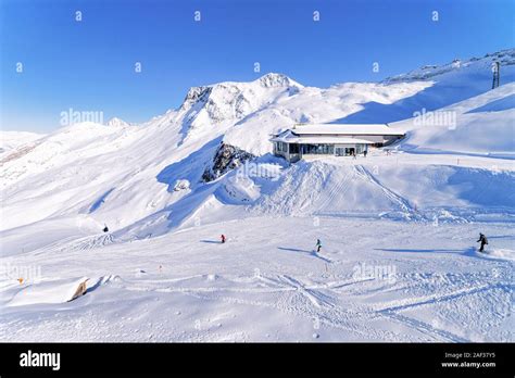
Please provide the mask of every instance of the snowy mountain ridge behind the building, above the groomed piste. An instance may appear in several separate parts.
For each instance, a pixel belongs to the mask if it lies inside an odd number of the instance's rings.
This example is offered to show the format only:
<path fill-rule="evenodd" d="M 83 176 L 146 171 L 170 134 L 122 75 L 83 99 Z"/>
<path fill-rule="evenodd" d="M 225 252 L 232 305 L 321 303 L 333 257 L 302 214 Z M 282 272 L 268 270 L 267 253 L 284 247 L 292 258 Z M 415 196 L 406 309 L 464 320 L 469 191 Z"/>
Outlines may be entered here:
<path fill-rule="evenodd" d="M 294 201 L 294 191 L 289 191 L 289 184 L 277 187 L 284 185 L 282 179 L 271 181 L 250 178 L 244 180 L 246 186 L 235 181 L 234 171 L 225 169 L 226 165 L 237 168 L 240 164 L 231 164 L 236 162 L 231 156 L 225 156 L 228 163 L 222 164 L 221 169 L 214 169 L 216 175 L 210 177 L 215 178 L 213 181 L 203 182 L 202 174 L 214 172 L 211 168 L 216 164 L 214 159 L 223 142 L 229 146 L 228 150 L 238 151 L 240 155 L 255 156 L 250 161 L 255 164 L 251 165 L 252 169 L 258 166 L 258 171 L 275 172 L 280 166 L 279 171 L 288 176 L 288 166 L 271 155 L 268 139 L 272 133 L 299 122 L 352 123 L 353 119 L 360 119 L 361 123 L 366 123 L 363 121 L 372 119 L 384 123 L 393 118 L 401 124 L 393 124 L 392 127 L 402 126 L 409 133 L 406 142 L 398 146 L 400 156 L 402 153 L 424 151 L 431 153 L 431 160 L 436 156 L 435 153 L 480 156 L 485 155 L 485 151 L 491 156 L 507 156 L 506 148 L 510 146 L 499 143 L 499 138 L 502 139 L 503 136 L 495 136 L 492 130 L 502 122 L 503 133 L 510 133 L 511 126 L 505 121 L 510 119 L 513 110 L 510 108 L 511 102 L 503 99 L 512 90 L 505 83 L 513 81 L 514 66 L 504 66 L 501 87 L 491 91 L 491 71 L 485 62 L 479 64 L 473 61 L 457 71 L 435 76 L 435 80 L 352 83 L 325 89 L 304 87 L 286 75 L 268 74 L 243 84 L 225 81 L 193 87 L 200 89 L 188 91 L 185 98 L 187 105 L 167 111 L 140 124 L 140 127 L 105 127 L 91 123 L 67 126 L 38 138 L 36 142 L 28 144 L 30 148 L 18 146 L 7 153 L 7 158 L 12 159 L 2 159 L 0 176 L 7 204 L 1 229 L 72 218 L 73 222 L 78 222 L 85 232 L 95 231 L 91 225 L 109 223 L 110 229 L 118 231 L 120 237 L 123 234 L 130 238 L 131 235 L 169 231 L 210 209 L 244 211 L 260 196 L 279 196 L 278 190 L 285 190 L 288 193 L 285 198 L 291 197 L 291 201 Z M 478 98 L 485 93 L 488 99 Z M 470 99 L 470 105 L 463 103 L 467 99 Z M 491 112 L 492 108 L 487 106 L 485 111 L 462 116 L 491 101 L 498 101 L 495 106 L 499 108 L 501 103 L 502 108 Z M 414 110 L 426 108 L 427 111 L 432 111 L 452 104 L 461 104 L 453 111 L 464 119 L 463 126 L 457 125 L 454 130 L 414 127 Z M 475 130 L 475 135 L 478 135 L 479 126 L 486 128 L 480 131 L 483 142 L 478 144 L 467 139 L 467 125 L 472 125 L 470 130 Z M 449 143 L 450 140 L 456 143 Z M 340 162 L 347 164 L 347 161 Z M 332 173 L 330 164 L 319 169 L 309 168 L 310 164 L 305 163 L 306 179 L 314 180 L 313 182 L 316 180 L 312 175 L 324 177 L 332 174 L 341 179 L 346 174 L 354 175 L 347 167 L 341 168 L 346 173 L 342 174 L 340 168 Z M 485 168 L 485 163 L 479 161 L 473 160 L 468 164 Z M 502 160 L 497 162 L 498 166 L 505 167 L 507 164 Z M 457 175 L 456 172 L 444 169 L 442 176 Z M 392 175 L 398 174 L 401 173 L 392 172 Z M 366 175 L 361 173 L 359 177 L 365 179 Z M 298 185 L 293 177 L 288 178 L 287 182 Z M 338 182 L 330 181 L 330 186 Z M 370 196 L 381 203 L 381 196 L 385 193 L 382 189 L 377 190 L 374 186 L 376 184 L 370 186 L 368 181 L 364 182 L 366 186 L 362 188 L 374 189 Z M 329 189 L 332 190 L 331 188 Z M 461 193 L 461 189 L 456 193 Z M 361 198 L 357 194 L 356 191 L 355 198 Z M 453 196 L 462 194 L 442 196 L 453 199 Z M 309 198 L 304 196 L 299 201 L 305 202 Z M 460 205 L 465 203 L 462 200 L 450 200 L 451 203 L 453 201 Z M 258 202 L 274 203 L 274 206 L 280 207 L 280 202 L 277 203 L 273 198 Z M 395 201 L 389 200 L 388 203 L 398 206 Z M 34 211 L 20 212 L 21 204 Z M 241 204 L 244 206 L 240 206 Z M 352 206 L 361 204 L 349 201 L 349 206 L 348 211 L 351 211 Z M 282 214 L 287 212 L 286 209 L 277 211 Z M 310 206 L 306 209 L 313 211 Z M 210 216 L 213 215 L 205 215 L 206 218 Z M 92 220 L 84 222 L 84 218 Z"/>

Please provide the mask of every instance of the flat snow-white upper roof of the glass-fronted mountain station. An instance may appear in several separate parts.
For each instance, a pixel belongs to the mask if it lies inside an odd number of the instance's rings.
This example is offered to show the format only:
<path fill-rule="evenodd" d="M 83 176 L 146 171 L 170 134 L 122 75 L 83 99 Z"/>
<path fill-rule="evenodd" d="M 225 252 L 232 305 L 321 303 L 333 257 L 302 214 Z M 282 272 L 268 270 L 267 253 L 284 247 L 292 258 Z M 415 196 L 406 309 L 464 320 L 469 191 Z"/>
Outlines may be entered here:
<path fill-rule="evenodd" d="M 404 135 L 402 131 L 391 129 L 386 124 L 296 125 L 292 131 L 298 135 Z"/>

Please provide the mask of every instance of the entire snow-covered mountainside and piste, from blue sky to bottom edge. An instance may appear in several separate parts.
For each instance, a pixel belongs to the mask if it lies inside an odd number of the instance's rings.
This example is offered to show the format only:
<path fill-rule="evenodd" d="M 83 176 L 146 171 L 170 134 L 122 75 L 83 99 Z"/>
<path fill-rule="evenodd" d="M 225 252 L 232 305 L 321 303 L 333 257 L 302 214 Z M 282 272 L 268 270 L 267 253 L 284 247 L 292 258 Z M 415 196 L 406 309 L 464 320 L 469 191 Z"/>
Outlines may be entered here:
<path fill-rule="evenodd" d="M 267 74 L 140 125 L 2 131 L 0 260 L 41 277 L 2 276 L 0 340 L 513 341 L 514 66 L 506 50 L 330 88 Z M 367 122 L 406 137 L 356 160 L 271 154 L 296 123 Z"/>

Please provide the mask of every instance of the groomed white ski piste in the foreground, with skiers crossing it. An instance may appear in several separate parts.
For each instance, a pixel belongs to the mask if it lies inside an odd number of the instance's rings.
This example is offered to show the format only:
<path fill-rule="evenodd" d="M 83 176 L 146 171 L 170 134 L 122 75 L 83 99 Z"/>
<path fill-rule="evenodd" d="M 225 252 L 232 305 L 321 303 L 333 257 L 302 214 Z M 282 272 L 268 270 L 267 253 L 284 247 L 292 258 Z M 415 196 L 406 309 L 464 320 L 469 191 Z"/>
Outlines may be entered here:
<path fill-rule="evenodd" d="M 39 265 L 42 280 L 2 282 L 0 339 L 513 341 L 513 262 L 500 255 L 514 240 L 510 224 L 253 217 L 43 249 L 2 259 Z M 56 301 L 83 276 L 89 292 Z"/>

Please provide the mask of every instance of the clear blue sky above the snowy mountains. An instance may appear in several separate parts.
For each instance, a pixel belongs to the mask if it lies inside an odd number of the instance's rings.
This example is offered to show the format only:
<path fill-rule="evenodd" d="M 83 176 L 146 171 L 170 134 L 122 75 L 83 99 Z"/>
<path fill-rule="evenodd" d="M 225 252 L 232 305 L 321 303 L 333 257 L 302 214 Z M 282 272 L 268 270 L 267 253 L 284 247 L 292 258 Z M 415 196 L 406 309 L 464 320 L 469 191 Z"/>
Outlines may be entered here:
<path fill-rule="evenodd" d="M 179 106 L 191 86 L 268 72 L 328 87 L 514 47 L 512 0 L 0 3 L 1 122 L 9 130 L 53 130 L 68 109 L 143 122 Z"/>

